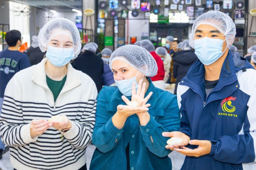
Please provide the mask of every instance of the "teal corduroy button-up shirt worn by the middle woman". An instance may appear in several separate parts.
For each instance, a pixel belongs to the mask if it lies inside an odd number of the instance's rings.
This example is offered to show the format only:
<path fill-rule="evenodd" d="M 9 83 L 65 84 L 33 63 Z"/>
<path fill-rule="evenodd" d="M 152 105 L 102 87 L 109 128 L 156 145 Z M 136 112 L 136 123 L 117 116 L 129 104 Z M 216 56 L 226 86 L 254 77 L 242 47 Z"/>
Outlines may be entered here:
<path fill-rule="evenodd" d="M 148 100 L 151 104 L 148 111 L 150 121 L 146 126 L 140 126 L 135 114 L 128 117 L 121 130 L 117 129 L 113 125 L 112 116 L 116 113 L 117 105 L 125 105 L 121 99 L 122 94 L 116 86 L 105 86 L 100 91 L 93 131 L 93 144 L 97 149 L 90 170 L 126 170 L 125 148 L 128 143 L 131 170 L 172 170 L 172 162 L 168 157 L 171 150 L 165 148 L 169 138 L 163 137 L 162 132 L 177 131 L 180 128 L 177 97 L 155 88 L 149 81 L 145 96 L 151 91 L 153 95 Z"/>

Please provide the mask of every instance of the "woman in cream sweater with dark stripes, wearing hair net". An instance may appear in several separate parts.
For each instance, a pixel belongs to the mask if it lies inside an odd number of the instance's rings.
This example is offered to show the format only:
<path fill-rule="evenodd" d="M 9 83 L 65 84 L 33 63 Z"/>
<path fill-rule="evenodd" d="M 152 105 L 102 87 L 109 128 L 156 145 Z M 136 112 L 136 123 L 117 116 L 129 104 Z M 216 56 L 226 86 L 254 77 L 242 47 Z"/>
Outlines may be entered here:
<path fill-rule="evenodd" d="M 17 170 L 86 170 L 97 89 L 70 60 L 81 49 L 74 23 L 50 20 L 38 35 L 46 58 L 18 72 L 6 87 L 0 137 Z M 55 116 L 51 122 L 48 120 Z"/>

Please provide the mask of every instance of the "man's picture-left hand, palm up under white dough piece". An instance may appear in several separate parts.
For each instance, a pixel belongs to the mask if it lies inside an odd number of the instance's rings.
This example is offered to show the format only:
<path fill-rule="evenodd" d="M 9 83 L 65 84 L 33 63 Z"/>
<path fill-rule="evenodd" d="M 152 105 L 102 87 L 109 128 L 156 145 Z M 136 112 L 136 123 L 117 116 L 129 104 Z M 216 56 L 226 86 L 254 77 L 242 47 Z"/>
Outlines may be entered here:
<path fill-rule="evenodd" d="M 165 136 L 165 137 L 171 137 L 171 138 L 175 137 L 175 138 L 183 139 L 183 141 L 180 142 L 179 144 L 166 145 L 166 149 L 170 149 L 170 150 L 175 150 L 175 148 L 180 148 L 180 147 L 186 146 L 186 145 L 189 144 L 189 141 L 190 141 L 190 137 L 189 136 L 187 136 L 185 133 L 178 132 L 178 131 L 175 131 L 175 132 L 163 132 L 162 135 Z"/>

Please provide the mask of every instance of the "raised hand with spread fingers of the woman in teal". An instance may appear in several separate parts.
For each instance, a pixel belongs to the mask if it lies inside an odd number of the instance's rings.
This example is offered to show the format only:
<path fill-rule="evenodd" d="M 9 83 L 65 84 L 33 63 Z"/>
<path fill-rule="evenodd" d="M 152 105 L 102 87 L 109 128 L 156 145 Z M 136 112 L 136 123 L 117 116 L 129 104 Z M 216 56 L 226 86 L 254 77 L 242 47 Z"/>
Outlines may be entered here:
<path fill-rule="evenodd" d="M 146 103 L 148 102 L 148 99 L 153 94 L 153 92 L 150 92 L 148 94 L 148 96 L 145 97 L 145 88 L 146 88 L 146 83 L 145 82 L 142 83 L 142 79 L 140 80 L 140 82 L 138 84 L 137 92 L 136 92 L 135 82 L 133 82 L 133 84 L 132 84 L 131 101 L 138 102 L 137 107 L 143 107 L 144 105 L 146 105 Z M 128 104 L 128 102 L 130 102 L 130 100 L 127 99 L 127 97 L 125 97 L 125 96 L 122 96 L 122 99 L 126 104 Z M 143 112 L 143 113 L 145 113 L 145 112 Z M 137 113 L 137 115 L 139 116 L 140 114 L 143 114 L 143 113 Z"/>

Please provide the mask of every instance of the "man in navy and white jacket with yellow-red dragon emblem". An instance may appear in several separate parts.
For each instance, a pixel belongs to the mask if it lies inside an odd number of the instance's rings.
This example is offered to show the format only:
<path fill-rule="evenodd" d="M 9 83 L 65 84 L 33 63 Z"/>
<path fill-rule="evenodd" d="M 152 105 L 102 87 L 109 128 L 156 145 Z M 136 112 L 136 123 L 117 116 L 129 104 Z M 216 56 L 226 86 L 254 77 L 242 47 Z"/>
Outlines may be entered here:
<path fill-rule="evenodd" d="M 198 61 L 177 89 L 183 139 L 167 149 L 186 155 L 182 170 L 255 170 L 256 71 L 228 48 L 236 26 L 220 11 L 195 20 L 189 45 Z"/>

